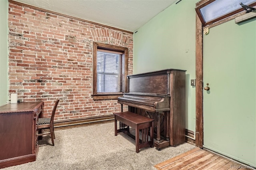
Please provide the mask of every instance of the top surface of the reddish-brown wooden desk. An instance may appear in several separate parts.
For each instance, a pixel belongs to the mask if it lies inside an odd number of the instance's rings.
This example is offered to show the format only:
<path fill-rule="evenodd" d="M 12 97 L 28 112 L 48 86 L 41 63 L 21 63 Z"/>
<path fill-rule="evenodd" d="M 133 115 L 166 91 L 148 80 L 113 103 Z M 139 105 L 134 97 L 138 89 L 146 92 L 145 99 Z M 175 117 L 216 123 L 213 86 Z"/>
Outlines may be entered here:
<path fill-rule="evenodd" d="M 43 101 L 32 101 L 22 103 L 8 103 L 0 107 L 0 113 L 10 113 L 15 111 L 33 111 L 44 105 Z"/>

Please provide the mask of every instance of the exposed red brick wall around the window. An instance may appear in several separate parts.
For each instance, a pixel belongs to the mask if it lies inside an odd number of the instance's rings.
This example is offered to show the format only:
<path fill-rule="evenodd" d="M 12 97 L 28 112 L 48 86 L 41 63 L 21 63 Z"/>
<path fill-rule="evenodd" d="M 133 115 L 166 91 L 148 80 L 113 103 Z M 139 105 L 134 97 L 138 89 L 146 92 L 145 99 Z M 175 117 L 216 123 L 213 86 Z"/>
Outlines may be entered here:
<path fill-rule="evenodd" d="M 92 48 L 93 42 L 128 47 L 132 74 L 131 33 L 13 3 L 8 28 L 9 93 L 23 101 L 44 101 L 44 117 L 60 97 L 56 120 L 120 111 L 117 100 L 91 97 Z"/>

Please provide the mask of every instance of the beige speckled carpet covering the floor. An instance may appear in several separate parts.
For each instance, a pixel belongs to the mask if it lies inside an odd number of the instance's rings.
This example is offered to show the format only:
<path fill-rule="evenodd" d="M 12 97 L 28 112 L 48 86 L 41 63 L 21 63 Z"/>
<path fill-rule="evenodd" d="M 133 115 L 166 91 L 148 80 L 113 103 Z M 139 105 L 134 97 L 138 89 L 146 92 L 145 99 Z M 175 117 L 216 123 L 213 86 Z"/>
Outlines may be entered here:
<path fill-rule="evenodd" d="M 36 161 L 2 170 L 156 170 L 155 164 L 195 148 L 184 143 L 136 153 L 132 138 L 123 133 L 114 136 L 114 123 L 56 130 L 55 137 L 55 146 L 50 136 L 39 141 Z"/>

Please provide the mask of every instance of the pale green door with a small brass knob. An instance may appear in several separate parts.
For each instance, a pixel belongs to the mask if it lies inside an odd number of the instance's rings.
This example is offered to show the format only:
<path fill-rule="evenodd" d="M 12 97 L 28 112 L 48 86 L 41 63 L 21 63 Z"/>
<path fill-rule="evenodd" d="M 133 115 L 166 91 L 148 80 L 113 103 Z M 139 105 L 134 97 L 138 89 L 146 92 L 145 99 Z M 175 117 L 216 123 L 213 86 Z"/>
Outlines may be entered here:
<path fill-rule="evenodd" d="M 256 19 L 203 36 L 203 147 L 256 166 Z"/>

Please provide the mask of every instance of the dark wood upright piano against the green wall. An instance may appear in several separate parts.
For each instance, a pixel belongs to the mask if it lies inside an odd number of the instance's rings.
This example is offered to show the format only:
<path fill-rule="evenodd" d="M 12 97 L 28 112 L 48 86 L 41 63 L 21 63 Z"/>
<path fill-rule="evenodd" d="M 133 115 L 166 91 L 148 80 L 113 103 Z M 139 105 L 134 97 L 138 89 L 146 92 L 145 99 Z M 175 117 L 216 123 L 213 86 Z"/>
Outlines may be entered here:
<path fill-rule="evenodd" d="M 186 70 L 164 69 L 128 75 L 128 91 L 118 103 L 154 119 L 157 149 L 185 142 Z"/>

